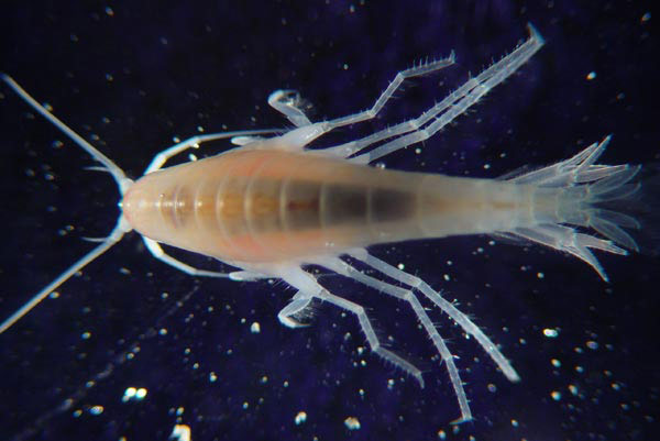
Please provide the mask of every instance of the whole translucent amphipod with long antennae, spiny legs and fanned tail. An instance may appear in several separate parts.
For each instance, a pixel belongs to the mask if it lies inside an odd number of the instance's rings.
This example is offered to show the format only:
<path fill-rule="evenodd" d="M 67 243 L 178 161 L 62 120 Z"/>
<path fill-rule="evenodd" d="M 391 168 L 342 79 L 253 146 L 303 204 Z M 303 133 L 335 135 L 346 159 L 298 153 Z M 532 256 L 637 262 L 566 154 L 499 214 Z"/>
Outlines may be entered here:
<path fill-rule="evenodd" d="M 122 214 L 108 238 L 4 320 L 0 332 L 123 234 L 135 230 L 156 258 L 188 274 L 233 280 L 279 278 L 295 287 L 292 302 L 278 313 L 287 327 L 301 326 L 296 317 L 312 299 L 352 312 L 372 351 L 424 387 L 421 371 L 382 345 L 365 309 L 330 293 L 305 269 L 306 265 L 321 265 L 407 302 L 447 367 L 461 412 L 457 421 L 472 419 L 454 357 L 419 295 L 473 337 L 509 381 L 517 382 L 518 374 L 491 339 L 436 289 L 371 255 L 366 247 L 454 234 L 508 235 L 571 253 L 606 278 L 590 249 L 616 254 L 625 254 L 624 247 L 635 250 L 635 241 L 623 228 L 637 228 L 638 223 L 598 205 L 631 196 L 637 187 L 630 179 L 639 167 L 596 164 L 609 137 L 570 159 L 510 179 L 405 173 L 369 164 L 429 139 L 515 73 L 543 44 L 531 25 L 529 33 L 514 52 L 416 119 L 345 144 L 308 150 L 314 140 L 333 129 L 374 118 L 406 78 L 452 65 L 453 53 L 448 58 L 399 71 L 371 109 L 330 121 L 312 123 L 297 107 L 295 91 L 277 90 L 268 103 L 295 129 L 279 135 L 273 135 L 274 130 L 263 130 L 195 136 L 157 154 L 136 181 L 127 178 L 112 161 L 2 75 L 11 89 L 86 150 L 101 164 L 99 168 L 112 175 L 123 199 Z M 273 136 L 263 137 L 268 134 Z M 217 156 L 163 168 L 173 155 L 229 137 L 239 146 Z M 576 228 L 592 229 L 603 238 L 578 232 Z M 224 274 L 194 268 L 165 254 L 160 243 L 216 257 L 237 271 Z M 363 274 L 342 258 L 345 256 L 402 286 Z"/>

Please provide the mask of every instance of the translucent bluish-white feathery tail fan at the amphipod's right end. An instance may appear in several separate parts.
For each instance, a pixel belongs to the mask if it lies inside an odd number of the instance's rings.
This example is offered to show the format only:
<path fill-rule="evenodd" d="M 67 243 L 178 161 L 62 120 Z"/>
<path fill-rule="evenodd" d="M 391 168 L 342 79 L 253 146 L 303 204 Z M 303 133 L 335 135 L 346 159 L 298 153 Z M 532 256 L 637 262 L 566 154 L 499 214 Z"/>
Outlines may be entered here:
<path fill-rule="evenodd" d="M 516 228 L 502 235 L 526 239 L 572 254 L 608 282 L 591 250 L 622 255 L 628 254 L 627 250 L 639 251 L 631 232 L 647 228 L 645 219 L 634 217 L 640 211 L 627 208 L 644 206 L 635 203 L 644 194 L 642 183 L 635 179 L 641 166 L 595 164 L 610 139 L 608 135 L 558 164 L 507 177 L 510 183 L 538 186 L 538 195 L 548 196 L 544 200 L 552 200 L 552 207 L 535 212 L 537 224 Z"/>

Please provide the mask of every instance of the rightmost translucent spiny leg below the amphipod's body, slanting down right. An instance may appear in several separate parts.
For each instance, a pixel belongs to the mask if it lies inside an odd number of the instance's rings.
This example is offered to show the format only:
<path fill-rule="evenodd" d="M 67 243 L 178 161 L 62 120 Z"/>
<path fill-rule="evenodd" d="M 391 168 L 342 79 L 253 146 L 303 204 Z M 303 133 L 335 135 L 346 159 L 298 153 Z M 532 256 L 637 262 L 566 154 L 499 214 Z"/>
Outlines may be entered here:
<path fill-rule="evenodd" d="M 352 252 L 350 255 L 361 262 L 364 262 L 369 266 L 374 269 L 380 271 L 381 273 L 394 278 L 395 280 L 400 282 L 402 284 L 408 285 L 414 289 L 418 289 L 421 294 L 425 295 L 429 300 L 431 300 L 436 306 L 438 306 L 444 313 L 447 313 L 454 322 L 457 322 L 465 332 L 474 337 L 474 339 L 481 344 L 481 346 L 486 351 L 486 353 L 493 359 L 493 361 L 497 364 L 497 366 L 502 370 L 504 375 L 512 382 L 518 382 L 520 377 L 518 373 L 514 370 L 512 364 L 506 360 L 504 354 L 497 349 L 495 343 L 491 339 L 483 333 L 483 331 L 474 324 L 472 320 L 463 312 L 461 312 L 455 306 L 444 299 L 440 293 L 436 291 L 431 288 L 426 282 L 420 279 L 419 277 L 413 276 L 402 269 L 398 269 L 395 266 L 389 265 L 388 263 L 381 261 L 377 257 L 372 256 L 365 250 L 361 250 L 360 252 Z"/>

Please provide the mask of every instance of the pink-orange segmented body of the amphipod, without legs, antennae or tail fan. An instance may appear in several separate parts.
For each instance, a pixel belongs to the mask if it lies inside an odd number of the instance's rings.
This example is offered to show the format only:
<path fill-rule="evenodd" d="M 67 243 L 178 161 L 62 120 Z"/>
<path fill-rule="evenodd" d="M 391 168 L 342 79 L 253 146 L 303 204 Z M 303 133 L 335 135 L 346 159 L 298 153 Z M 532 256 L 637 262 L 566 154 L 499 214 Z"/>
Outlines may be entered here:
<path fill-rule="evenodd" d="M 374 243 L 505 229 L 525 190 L 310 152 L 240 148 L 145 175 L 122 207 L 136 231 L 173 246 L 224 262 L 304 262 Z"/>

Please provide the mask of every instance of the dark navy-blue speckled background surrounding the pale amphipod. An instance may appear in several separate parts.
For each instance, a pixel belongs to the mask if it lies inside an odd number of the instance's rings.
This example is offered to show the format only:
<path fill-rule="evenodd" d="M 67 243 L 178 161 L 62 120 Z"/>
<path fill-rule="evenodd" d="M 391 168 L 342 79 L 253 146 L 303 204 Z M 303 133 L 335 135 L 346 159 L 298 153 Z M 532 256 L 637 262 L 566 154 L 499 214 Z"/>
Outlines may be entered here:
<path fill-rule="evenodd" d="M 286 125 L 265 103 L 274 89 L 300 90 L 312 119 L 334 118 L 371 106 L 414 60 L 455 49 L 455 67 L 411 82 L 382 120 L 318 145 L 416 115 L 510 52 L 528 21 L 547 45 L 419 154 L 396 153 L 387 166 L 495 177 L 565 158 L 608 133 L 604 162 L 660 159 L 660 16 L 642 21 L 651 12 L 642 2 L 22 3 L 2 5 L 0 69 L 133 177 L 198 126 Z M 7 87 L 0 93 L 4 317 L 89 250 L 81 236 L 110 231 L 119 196 L 107 176 L 82 169 L 88 155 Z M 404 305 L 322 277 L 367 306 L 380 334 L 425 367 L 425 389 L 369 350 L 359 353 L 366 342 L 353 317 L 316 305 L 311 327 L 283 328 L 276 313 L 293 295 L 284 284 L 196 279 L 130 234 L 0 335 L 2 438 L 164 440 L 177 422 L 194 440 L 431 440 L 440 431 L 449 440 L 656 438 L 658 260 L 598 254 L 607 285 L 575 258 L 490 240 L 372 250 L 458 299 L 520 373 L 521 383 L 508 383 L 473 340 L 430 311 L 459 356 L 473 422 L 449 425 L 459 409 L 444 366 Z M 250 332 L 253 322 L 261 333 Z M 145 387 L 146 398 L 122 403 L 129 386 Z M 307 421 L 297 426 L 299 411 Z M 346 417 L 361 429 L 349 431 Z"/>

